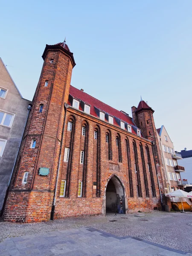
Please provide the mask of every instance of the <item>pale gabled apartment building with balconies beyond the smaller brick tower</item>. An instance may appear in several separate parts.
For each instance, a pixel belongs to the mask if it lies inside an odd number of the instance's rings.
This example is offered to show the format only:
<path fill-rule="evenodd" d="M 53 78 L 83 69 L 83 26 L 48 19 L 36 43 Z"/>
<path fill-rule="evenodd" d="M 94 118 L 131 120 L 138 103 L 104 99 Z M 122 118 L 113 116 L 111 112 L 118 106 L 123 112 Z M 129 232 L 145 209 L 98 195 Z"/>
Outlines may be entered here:
<path fill-rule="evenodd" d="M 177 163 L 177 160 L 182 159 L 181 154 L 175 152 L 172 140 L 164 125 L 157 129 L 157 134 L 159 135 L 168 192 L 173 192 L 176 189 L 183 189 L 184 184 L 180 174 L 185 172 L 185 168 Z"/>

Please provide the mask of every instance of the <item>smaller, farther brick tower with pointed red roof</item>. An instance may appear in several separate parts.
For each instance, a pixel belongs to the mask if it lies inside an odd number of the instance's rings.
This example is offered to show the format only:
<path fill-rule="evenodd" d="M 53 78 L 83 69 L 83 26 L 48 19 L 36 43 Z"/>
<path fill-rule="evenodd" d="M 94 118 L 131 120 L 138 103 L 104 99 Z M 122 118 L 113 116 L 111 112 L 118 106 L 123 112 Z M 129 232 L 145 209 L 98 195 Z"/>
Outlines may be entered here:
<path fill-rule="evenodd" d="M 135 124 L 139 127 L 143 133 L 143 136 L 153 142 L 153 152 L 156 163 L 157 175 L 160 183 L 160 190 L 162 195 L 163 204 L 166 204 L 165 194 L 166 178 L 163 172 L 163 163 L 160 157 L 160 147 L 157 138 L 157 131 L 154 124 L 153 113 L 154 110 L 148 106 L 148 104 L 141 99 L 138 107 L 132 107 L 132 116 Z"/>

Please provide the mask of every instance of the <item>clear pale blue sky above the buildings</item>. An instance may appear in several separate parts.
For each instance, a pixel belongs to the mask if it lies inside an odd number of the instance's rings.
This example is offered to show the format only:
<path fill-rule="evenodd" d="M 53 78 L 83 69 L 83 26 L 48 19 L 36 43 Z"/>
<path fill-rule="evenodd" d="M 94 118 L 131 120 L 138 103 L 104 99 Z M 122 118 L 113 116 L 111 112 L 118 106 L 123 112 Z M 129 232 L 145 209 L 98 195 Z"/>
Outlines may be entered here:
<path fill-rule="evenodd" d="M 3 1 L 0 57 L 32 99 L 46 44 L 74 53 L 71 84 L 131 115 L 140 95 L 175 150 L 192 149 L 192 1 Z"/>

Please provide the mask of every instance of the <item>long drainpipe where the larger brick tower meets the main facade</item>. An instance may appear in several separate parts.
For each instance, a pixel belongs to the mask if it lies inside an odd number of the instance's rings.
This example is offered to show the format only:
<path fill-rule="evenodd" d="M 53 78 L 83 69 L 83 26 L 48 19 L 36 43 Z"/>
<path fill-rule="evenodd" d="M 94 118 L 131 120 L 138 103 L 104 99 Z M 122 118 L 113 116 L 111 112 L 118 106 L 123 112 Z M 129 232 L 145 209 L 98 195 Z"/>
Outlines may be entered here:
<path fill-rule="evenodd" d="M 67 108 L 69 108 L 69 105 L 67 103 L 64 103 L 64 108 L 65 108 L 65 116 L 64 116 L 64 125 L 63 125 L 63 131 L 62 131 L 62 137 L 61 137 L 61 148 L 60 148 L 60 155 L 59 155 L 59 164 L 58 164 L 58 170 L 57 170 L 57 180 L 56 180 L 56 186 L 55 186 L 55 195 L 54 195 L 54 200 L 53 200 L 53 206 L 51 210 L 51 220 L 54 220 L 54 215 L 55 215 L 55 203 L 56 203 L 56 194 L 57 194 L 57 187 L 58 187 L 58 177 L 59 177 L 59 171 L 60 171 L 60 164 L 61 164 L 61 150 L 63 146 L 63 134 L 64 134 L 64 129 L 65 129 L 65 121 L 66 121 L 66 115 L 67 115 Z"/>

